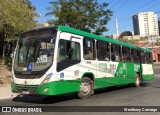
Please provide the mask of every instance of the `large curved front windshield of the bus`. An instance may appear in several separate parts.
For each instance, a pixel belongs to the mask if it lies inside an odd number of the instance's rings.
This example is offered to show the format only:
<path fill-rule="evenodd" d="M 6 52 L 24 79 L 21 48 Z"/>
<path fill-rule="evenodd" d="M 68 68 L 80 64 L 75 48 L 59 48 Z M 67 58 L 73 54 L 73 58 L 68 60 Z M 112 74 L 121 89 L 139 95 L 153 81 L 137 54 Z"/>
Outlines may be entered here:
<path fill-rule="evenodd" d="M 38 72 L 53 63 L 56 31 L 36 30 L 21 35 L 15 54 L 16 72 Z"/>

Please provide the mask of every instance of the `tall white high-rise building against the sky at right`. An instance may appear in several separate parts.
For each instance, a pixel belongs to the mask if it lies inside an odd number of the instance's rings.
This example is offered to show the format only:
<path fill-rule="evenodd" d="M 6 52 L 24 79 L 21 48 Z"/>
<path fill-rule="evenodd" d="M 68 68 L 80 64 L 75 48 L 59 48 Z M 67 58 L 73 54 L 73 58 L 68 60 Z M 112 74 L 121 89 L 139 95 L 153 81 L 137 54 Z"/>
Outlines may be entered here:
<path fill-rule="evenodd" d="M 158 29 L 158 16 L 154 12 L 140 12 L 132 17 L 134 35 L 157 36 L 159 35 Z"/>

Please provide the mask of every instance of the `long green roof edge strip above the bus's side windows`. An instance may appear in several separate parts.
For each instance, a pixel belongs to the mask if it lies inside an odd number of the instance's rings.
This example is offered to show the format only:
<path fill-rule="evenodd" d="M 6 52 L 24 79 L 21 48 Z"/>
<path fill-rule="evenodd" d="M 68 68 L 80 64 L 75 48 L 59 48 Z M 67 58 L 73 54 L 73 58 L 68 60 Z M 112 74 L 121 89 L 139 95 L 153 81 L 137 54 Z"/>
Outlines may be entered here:
<path fill-rule="evenodd" d="M 144 50 L 146 52 L 152 52 L 149 49 L 141 48 L 141 47 L 138 47 L 138 46 L 135 46 L 135 45 L 132 45 L 132 44 L 128 44 L 128 43 L 118 41 L 118 40 L 114 40 L 114 39 L 107 38 L 107 37 L 103 37 L 103 36 L 100 36 L 100 35 L 91 34 L 91 33 L 84 32 L 84 31 L 81 31 L 81 30 L 78 30 L 78 29 L 74 29 L 74 28 L 71 28 L 71 27 L 68 27 L 68 26 L 59 26 L 58 30 L 62 31 L 62 32 L 69 32 L 69 33 L 73 33 L 73 34 L 76 34 L 76 35 L 81 35 L 81 36 L 94 38 L 94 39 L 97 39 L 97 40 L 106 41 L 106 42 L 121 45 L 121 46 L 126 46 L 126 47 L 129 47 L 129 48 L 140 49 L 140 50 Z"/>

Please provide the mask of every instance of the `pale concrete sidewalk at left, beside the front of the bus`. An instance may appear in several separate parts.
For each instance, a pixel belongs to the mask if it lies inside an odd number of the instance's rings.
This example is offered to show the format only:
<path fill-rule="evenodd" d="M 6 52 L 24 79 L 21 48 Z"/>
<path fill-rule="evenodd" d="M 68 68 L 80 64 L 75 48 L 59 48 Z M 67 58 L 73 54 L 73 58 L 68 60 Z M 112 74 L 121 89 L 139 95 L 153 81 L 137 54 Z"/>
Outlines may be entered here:
<path fill-rule="evenodd" d="M 10 84 L 0 84 L 0 99 L 16 97 L 18 93 L 12 93 Z"/>

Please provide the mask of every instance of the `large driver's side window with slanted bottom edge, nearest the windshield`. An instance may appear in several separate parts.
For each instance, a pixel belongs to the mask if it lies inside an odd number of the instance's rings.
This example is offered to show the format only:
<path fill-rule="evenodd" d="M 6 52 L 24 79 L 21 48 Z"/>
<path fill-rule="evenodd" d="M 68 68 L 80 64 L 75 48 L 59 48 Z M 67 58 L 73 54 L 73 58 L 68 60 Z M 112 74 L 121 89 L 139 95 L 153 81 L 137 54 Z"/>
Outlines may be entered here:
<path fill-rule="evenodd" d="M 60 39 L 57 51 L 57 71 L 62 71 L 80 61 L 80 44 Z"/>

